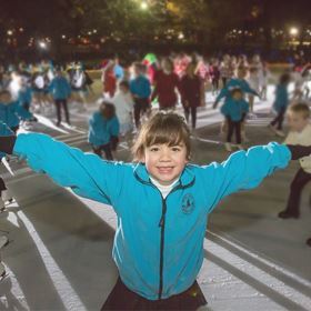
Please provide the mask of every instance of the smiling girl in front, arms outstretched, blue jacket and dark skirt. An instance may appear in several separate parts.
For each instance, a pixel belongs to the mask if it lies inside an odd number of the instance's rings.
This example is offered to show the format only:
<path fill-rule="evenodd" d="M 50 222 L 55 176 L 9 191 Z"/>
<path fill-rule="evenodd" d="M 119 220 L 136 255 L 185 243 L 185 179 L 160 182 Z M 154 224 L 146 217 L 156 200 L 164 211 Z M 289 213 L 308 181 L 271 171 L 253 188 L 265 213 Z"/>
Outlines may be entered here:
<path fill-rule="evenodd" d="M 310 147 L 272 142 L 200 167 L 189 163 L 190 141 L 183 118 L 163 112 L 142 126 L 133 163 L 103 161 L 46 134 L 0 137 L 0 151 L 22 157 L 61 187 L 114 209 L 112 255 L 120 278 L 102 310 L 197 310 L 205 304 L 195 279 L 208 215 L 224 197 L 253 189 L 290 159 L 311 154 Z"/>

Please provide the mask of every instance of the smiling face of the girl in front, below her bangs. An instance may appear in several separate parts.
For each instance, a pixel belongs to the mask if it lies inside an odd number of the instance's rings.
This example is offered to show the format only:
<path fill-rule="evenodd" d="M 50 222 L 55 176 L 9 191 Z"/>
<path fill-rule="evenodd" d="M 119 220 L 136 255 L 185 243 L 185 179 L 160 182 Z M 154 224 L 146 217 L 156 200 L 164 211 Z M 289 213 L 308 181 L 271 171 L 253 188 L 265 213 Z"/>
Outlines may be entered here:
<path fill-rule="evenodd" d="M 177 146 L 153 144 L 144 150 L 148 172 L 162 185 L 171 184 L 183 171 L 187 160 L 184 143 Z"/>

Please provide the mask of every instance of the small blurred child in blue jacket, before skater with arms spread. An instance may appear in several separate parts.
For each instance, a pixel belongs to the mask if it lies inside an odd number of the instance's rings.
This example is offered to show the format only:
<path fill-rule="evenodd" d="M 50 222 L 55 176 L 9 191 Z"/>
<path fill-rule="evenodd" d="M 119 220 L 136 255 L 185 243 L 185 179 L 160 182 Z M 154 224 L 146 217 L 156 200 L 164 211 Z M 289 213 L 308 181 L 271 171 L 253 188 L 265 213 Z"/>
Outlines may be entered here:
<path fill-rule="evenodd" d="M 221 108 L 221 113 L 224 116 L 228 124 L 225 150 L 232 151 L 231 139 L 235 131 L 237 144 L 240 150 L 242 147 L 241 126 L 249 112 L 249 103 L 243 99 L 243 92 L 240 89 L 231 91 L 231 99 L 228 100 Z"/>

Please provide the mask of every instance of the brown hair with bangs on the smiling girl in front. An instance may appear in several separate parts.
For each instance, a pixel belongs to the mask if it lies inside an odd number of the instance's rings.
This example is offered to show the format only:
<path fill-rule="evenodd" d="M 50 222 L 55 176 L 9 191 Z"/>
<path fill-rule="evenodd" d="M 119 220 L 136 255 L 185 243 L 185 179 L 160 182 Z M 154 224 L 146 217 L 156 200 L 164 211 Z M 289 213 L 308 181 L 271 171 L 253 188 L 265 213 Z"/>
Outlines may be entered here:
<path fill-rule="evenodd" d="M 187 158 L 190 160 L 190 131 L 183 117 L 174 112 L 158 112 L 146 122 L 132 147 L 133 161 L 139 162 L 144 157 L 146 148 L 152 144 L 177 146 L 184 143 Z"/>

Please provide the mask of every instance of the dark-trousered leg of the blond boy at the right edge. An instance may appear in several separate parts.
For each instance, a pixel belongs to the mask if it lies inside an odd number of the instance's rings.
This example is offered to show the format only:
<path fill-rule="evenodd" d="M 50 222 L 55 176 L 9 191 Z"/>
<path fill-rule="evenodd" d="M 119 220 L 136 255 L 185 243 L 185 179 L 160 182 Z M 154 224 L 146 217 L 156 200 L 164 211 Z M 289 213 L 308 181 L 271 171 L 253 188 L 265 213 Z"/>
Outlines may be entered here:
<path fill-rule="evenodd" d="M 279 213 L 280 218 L 299 217 L 301 192 L 309 181 L 311 181 L 311 174 L 300 169 L 291 183 L 287 209 Z"/>

